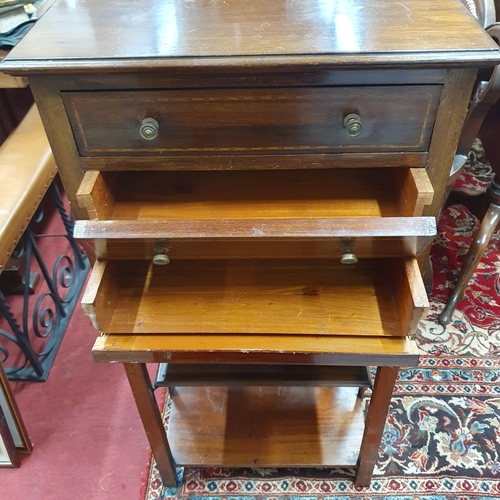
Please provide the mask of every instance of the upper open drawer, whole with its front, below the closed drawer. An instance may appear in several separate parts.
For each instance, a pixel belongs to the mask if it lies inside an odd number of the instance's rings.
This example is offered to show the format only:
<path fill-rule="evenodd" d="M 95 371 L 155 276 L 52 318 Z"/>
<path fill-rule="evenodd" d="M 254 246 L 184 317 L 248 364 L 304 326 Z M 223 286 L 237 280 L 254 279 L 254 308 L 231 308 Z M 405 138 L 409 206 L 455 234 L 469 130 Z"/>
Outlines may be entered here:
<path fill-rule="evenodd" d="M 75 236 L 98 258 L 415 256 L 436 234 L 414 217 L 433 197 L 424 169 L 93 171 L 77 196 L 92 220 Z"/>

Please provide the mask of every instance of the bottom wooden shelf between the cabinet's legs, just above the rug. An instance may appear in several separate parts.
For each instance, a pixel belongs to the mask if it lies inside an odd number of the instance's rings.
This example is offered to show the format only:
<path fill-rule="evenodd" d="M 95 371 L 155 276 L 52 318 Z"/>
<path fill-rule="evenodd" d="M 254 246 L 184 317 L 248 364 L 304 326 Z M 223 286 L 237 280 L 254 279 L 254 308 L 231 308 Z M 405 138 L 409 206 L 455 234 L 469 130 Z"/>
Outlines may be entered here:
<path fill-rule="evenodd" d="M 354 467 L 364 431 L 353 387 L 179 387 L 168 440 L 179 466 Z"/>

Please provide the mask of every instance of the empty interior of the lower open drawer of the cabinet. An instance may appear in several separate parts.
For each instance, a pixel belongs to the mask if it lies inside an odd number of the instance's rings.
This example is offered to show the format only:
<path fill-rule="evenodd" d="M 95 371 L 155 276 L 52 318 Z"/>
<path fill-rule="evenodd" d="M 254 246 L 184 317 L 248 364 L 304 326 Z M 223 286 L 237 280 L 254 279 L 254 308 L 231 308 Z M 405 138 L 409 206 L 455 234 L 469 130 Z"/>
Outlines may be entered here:
<path fill-rule="evenodd" d="M 110 334 L 403 336 L 427 296 L 415 259 L 98 261 L 82 303 Z"/>

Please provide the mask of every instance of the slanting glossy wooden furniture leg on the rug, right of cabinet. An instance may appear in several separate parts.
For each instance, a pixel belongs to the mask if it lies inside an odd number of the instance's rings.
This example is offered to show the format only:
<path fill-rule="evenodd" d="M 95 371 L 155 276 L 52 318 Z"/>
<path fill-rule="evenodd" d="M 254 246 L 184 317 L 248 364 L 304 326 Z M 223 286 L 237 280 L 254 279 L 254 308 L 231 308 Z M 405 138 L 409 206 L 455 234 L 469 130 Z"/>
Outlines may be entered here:
<path fill-rule="evenodd" d="M 439 315 L 439 322 L 442 325 L 447 325 L 453 316 L 453 312 L 457 307 L 458 301 L 461 299 L 467 284 L 471 276 L 474 274 L 479 261 L 481 260 L 488 243 L 490 242 L 491 236 L 497 227 L 500 220 L 500 205 L 491 203 L 488 207 L 488 211 L 484 216 L 483 222 L 479 227 L 476 236 L 465 256 L 462 269 L 458 276 L 455 288 L 452 290 L 450 296 L 448 297 L 448 302 L 446 303 L 443 312 Z"/>

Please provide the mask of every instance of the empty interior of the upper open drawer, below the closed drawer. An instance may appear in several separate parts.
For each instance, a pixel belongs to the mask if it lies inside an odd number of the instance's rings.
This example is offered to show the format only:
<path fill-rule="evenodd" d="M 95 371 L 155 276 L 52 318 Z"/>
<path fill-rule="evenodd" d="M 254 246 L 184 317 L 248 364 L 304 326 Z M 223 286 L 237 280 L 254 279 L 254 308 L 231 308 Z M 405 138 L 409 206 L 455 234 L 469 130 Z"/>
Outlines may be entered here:
<path fill-rule="evenodd" d="M 296 219 L 422 215 L 425 169 L 98 172 L 78 190 L 94 220 Z"/>

